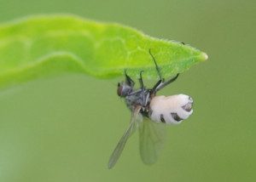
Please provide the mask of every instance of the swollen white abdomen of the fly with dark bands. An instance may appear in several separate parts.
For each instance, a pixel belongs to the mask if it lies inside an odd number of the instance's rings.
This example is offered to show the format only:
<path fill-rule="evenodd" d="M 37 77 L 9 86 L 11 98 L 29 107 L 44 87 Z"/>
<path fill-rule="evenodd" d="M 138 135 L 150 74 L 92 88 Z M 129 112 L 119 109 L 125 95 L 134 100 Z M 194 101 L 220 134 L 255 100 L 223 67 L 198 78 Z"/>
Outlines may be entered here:
<path fill-rule="evenodd" d="M 149 117 L 154 122 L 177 124 L 192 114 L 192 105 L 192 98 L 185 94 L 155 96 L 149 105 Z"/>

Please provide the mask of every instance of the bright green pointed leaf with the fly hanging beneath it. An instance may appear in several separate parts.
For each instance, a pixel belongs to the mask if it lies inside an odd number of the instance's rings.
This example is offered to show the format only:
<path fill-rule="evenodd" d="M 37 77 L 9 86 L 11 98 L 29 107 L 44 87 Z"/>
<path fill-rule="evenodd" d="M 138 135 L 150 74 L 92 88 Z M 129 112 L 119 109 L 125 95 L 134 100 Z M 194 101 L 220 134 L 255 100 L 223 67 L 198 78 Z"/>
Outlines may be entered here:
<path fill-rule="evenodd" d="M 32 16 L 0 25 L 0 87 L 63 72 L 94 77 L 156 78 L 151 49 L 164 77 L 207 60 L 207 54 L 183 43 L 148 37 L 119 24 L 59 14 Z"/>

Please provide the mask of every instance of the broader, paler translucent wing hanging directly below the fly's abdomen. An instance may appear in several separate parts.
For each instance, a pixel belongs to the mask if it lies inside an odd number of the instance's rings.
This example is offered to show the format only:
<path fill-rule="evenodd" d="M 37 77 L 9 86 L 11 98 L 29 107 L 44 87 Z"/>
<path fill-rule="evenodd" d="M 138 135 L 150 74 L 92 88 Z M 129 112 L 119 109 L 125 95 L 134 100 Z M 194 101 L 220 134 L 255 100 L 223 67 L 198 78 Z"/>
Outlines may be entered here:
<path fill-rule="evenodd" d="M 140 154 L 145 164 L 157 161 L 166 138 L 165 128 L 165 124 L 152 122 L 147 117 L 139 122 Z"/>

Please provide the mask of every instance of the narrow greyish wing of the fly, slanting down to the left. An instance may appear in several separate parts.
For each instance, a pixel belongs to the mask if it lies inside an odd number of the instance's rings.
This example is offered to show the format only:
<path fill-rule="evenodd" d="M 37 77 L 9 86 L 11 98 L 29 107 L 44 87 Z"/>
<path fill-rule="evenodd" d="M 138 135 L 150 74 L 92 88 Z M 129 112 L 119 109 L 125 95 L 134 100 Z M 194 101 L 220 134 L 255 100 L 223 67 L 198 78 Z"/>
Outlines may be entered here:
<path fill-rule="evenodd" d="M 125 143 L 127 139 L 133 134 L 137 128 L 137 123 L 142 120 L 142 116 L 139 114 L 141 107 L 137 106 L 135 110 L 132 112 L 131 122 L 129 128 L 125 131 L 125 134 L 119 140 L 118 145 L 116 145 L 115 149 L 113 150 L 112 155 L 108 161 L 108 168 L 113 168 L 114 164 L 118 161 L 119 156 L 121 155 L 122 151 L 125 148 Z"/>

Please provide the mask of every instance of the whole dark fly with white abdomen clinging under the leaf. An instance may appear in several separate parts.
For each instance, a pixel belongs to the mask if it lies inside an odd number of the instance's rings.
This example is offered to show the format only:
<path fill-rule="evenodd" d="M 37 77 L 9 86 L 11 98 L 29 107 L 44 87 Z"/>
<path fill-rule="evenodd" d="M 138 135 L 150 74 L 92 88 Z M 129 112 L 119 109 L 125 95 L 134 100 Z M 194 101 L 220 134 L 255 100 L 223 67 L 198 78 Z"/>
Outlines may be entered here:
<path fill-rule="evenodd" d="M 121 152 L 125 148 L 127 139 L 139 128 L 140 155 L 144 163 L 152 164 L 157 161 L 159 151 L 163 145 L 164 131 L 166 124 L 179 124 L 187 119 L 193 112 L 193 100 L 186 94 L 175 94 L 171 96 L 156 96 L 160 89 L 165 88 L 174 82 L 176 77 L 165 80 L 160 73 L 153 54 L 149 54 L 154 60 L 154 65 L 160 80 L 153 88 L 145 88 L 143 83 L 143 71 L 138 79 L 140 88 L 135 89 L 135 82 L 125 71 L 125 82 L 118 83 L 117 94 L 125 99 L 127 107 L 131 110 L 131 122 L 125 134 L 119 139 L 109 158 L 108 168 L 113 168 L 118 161 Z"/>

